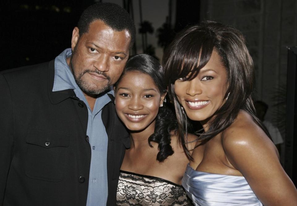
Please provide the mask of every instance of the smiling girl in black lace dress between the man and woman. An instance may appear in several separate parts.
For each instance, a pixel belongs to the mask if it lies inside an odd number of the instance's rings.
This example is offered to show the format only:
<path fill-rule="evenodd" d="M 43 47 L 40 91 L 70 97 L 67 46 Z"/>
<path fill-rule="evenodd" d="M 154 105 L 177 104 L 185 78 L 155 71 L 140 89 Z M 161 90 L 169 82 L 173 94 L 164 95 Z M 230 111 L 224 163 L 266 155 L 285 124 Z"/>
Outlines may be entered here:
<path fill-rule="evenodd" d="M 121 166 L 117 205 L 190 205 L 181 186 L 189 159 L 176 137 L 176 117 L 165 103 L 163 67 L 152 56 L 136 55 L 114 91 L 116 111 L 131 140 Z"/>

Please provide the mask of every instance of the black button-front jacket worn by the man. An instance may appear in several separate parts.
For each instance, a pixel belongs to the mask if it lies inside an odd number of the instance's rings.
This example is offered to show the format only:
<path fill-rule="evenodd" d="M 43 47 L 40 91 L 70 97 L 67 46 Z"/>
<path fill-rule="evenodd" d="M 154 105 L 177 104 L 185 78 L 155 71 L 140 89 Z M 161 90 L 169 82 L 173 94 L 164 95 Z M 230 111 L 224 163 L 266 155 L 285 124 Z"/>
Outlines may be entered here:
<path fill-rule="evenodd" d="M 0 73 L 0 205 L 86 205 L 88 110 L 73 91 L 52 92 L 54 60 Z M 115 205 L 128 133 L 110 101 L 107 205 Z"/>

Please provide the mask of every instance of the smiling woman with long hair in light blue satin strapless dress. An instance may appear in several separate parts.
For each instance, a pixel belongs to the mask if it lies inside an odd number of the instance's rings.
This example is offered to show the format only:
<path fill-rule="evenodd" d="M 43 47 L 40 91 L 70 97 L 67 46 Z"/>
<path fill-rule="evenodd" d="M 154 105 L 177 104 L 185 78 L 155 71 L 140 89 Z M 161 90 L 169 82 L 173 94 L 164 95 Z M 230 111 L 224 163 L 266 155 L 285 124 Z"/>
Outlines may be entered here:
<path fill-rule="evenodd" d="M 185 150 L 188 119 L 203 126 L 182 182 L 194 204 L 297 205 L 255 115 L 254 67 L 242 33 L 216 22 L 192 26 L 175 37 L 163 63 Z"/>

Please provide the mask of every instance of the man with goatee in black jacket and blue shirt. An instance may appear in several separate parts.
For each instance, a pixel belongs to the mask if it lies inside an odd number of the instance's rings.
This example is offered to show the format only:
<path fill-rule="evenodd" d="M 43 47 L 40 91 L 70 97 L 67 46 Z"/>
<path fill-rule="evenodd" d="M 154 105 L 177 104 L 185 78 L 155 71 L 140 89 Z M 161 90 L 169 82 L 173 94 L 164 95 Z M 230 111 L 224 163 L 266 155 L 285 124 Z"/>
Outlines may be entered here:
<path fill-rule="evenodd" d="M 0 205 L 115 205 L 130 143 L 109 88 L 134 39 L 129 14 L 98 3 L 71 49 L 0 73 Z"/>

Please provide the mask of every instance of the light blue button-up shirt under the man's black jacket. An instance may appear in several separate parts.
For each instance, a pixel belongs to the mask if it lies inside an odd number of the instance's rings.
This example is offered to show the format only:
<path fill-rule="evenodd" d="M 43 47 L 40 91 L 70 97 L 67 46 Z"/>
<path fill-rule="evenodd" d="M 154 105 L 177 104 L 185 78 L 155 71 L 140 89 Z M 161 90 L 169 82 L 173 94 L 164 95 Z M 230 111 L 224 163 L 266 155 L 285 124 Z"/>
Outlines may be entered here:
<path fill-rule="evenodd" d="M 66 62 L 66 58 L 72 54 L 71 49 L 65 49 L 55 58 L 55 79 L 53 92 L 65 89 L 73 89 L 75 95 L 88 107 L 88 127 L 89 144 L 91 146 L 91 167 L 89 174 L 89 187 L 87 206 L 106 205 L 108 195 L 107 185 L 107 144 L 108 138 L 101 119 L 101 111 L 104 105 L 110 102 L 107 93 L 102 93 L 96 99 L 93 112 L 84 97 L 84 93 L 76 84 L 73 74 Z M 78 176 L 80 174 L 77 174 Z"/>

